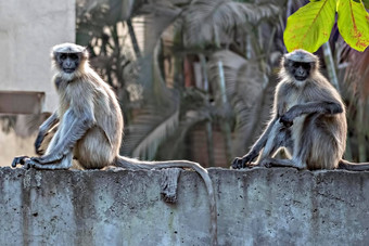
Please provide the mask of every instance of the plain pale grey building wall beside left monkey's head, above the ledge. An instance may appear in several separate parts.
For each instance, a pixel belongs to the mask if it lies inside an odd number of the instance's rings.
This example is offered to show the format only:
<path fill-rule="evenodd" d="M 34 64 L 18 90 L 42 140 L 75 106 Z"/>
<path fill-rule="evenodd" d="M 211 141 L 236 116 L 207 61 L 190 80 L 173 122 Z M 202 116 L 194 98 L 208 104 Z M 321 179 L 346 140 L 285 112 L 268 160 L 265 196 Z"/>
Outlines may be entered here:
<path fill-rule="evenodd" d="M 53 112 L 50 48 L 75 41 L 75 0 L 0 1 L 0 91 L 46 92 Z"/>

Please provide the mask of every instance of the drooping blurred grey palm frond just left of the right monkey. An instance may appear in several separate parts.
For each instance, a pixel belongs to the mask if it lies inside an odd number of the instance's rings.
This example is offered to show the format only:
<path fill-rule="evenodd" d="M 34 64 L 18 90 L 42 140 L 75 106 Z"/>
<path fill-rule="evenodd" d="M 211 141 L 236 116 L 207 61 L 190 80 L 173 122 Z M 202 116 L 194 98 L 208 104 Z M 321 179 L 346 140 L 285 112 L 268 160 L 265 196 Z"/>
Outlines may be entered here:
<path fill-rule="evenodd" d="M 259 134 L 263 128 L 259 122 L 268 118 L 269 111 L 265 106 L 269 108 L 271 105 L 272 93 L 265 93 L 268 89 L 266 75 L 259 70 L 257 63 L 227 50 L 215 53 L 208 62 L 212 85 L 216 86 L 218 79 L 218 61 L 222 62 L 227 96 L 237 117 L 233 151 L 239 154 Z"/>

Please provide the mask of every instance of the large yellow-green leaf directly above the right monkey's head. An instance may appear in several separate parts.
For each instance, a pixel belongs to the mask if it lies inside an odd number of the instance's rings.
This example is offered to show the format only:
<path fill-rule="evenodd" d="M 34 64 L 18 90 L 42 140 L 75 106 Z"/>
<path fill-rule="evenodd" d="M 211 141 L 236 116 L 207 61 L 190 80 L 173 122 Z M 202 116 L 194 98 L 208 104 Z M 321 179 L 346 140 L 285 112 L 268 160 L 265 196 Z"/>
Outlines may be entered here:
<path fill-rule="evenodd" d="M 334 18 L 335 0 L 311 1 L 300 8 L 287 22 L 283 39 L 288 51 L 317 51 L 328 41 Z"/>

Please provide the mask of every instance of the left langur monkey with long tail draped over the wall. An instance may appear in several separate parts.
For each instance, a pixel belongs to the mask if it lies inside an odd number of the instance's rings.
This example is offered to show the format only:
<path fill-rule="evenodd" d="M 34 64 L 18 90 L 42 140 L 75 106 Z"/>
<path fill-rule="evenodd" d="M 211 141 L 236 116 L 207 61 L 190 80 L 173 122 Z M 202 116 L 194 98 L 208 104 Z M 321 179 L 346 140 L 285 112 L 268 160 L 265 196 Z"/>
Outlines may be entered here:
<path fill-rule="evenodd" d="M 39 128 L 35 142 L 39 153 L 47 132 L 59 124 L 44 155 L 15 157 L 25 168 L 68 169 L 73 158 L 84 169 L 101 169 L 116 166 L 126 169 L 193 168 L 204 180 L 209 195 L 211 237 L 217 243 L 217 210 L 212 180 L 206 169 L 187 160 L 141 161 L 118 154 L 124 121 L 113 90 L 88 63 L 86 48 L 62 43 L 52 48 L 53 77 L 59 94 L 59 108 Z"/>

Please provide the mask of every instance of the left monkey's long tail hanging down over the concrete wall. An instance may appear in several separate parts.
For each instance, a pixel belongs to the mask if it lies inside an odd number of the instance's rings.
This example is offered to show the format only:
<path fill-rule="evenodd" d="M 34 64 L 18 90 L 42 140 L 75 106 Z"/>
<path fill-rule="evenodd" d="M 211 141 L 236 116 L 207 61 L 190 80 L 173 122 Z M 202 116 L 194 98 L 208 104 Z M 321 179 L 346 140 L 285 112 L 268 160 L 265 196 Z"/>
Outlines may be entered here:
<path fill-rule="evenodd" d="M 217 245 L 217 208 L 215 202 L 215 192 L 213 187 L 213 182 L 208 172 L 205 168 L 196 163 L 188 160 L 166 160 L 166 161 L 143 161 L 133 158 L 128 158 L 125 156 L 117 156 L 115 161 L 117 167 L 127 169 L 163 169 L 163 168 L 192 168 L 194 169 L 201 178 L 204 180 L 211 207 L 211 237 L 212 245 Z"/>

